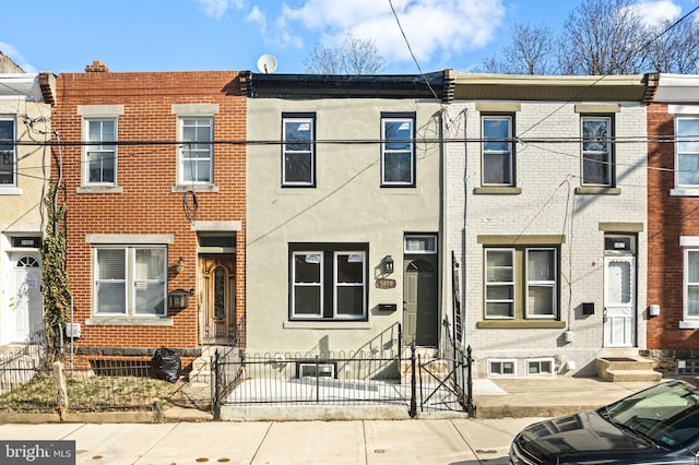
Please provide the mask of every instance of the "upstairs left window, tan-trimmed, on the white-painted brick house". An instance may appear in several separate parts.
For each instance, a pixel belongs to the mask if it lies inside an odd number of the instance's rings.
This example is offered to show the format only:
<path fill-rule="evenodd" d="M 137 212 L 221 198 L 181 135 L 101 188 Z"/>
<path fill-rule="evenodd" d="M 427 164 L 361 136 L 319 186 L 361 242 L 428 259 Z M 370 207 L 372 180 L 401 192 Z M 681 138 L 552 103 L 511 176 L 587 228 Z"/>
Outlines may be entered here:
<path fill-rule="evenodd" d="M 483 186 L 513 186 L 512 117 L 482 118 Z"/>

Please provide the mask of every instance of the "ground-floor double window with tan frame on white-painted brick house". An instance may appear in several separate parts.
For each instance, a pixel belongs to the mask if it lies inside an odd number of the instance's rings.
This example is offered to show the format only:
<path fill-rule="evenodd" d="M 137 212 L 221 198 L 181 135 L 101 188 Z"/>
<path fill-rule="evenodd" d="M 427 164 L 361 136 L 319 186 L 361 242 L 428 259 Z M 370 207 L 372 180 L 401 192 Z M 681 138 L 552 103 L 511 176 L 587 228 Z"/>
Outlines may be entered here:
<path fill-rule="evenodd" d="M 557 263 L 555 248 L 486 249 L 485 318 L 558 318 Z"/>

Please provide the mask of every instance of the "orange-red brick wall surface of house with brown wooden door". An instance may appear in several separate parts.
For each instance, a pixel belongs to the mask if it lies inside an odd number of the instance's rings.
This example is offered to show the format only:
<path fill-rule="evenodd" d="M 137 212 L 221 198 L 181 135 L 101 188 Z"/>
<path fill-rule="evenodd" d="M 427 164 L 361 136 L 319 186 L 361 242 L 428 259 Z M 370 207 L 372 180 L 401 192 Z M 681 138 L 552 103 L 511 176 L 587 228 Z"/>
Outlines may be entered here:
<path fill-rule="evenodd" d="M 247 105 L 235 71 L 67 73 L 57 80 L 52 129 L 66 143 L 55 147 L 52 178 L 62 159 L 68 208 L 68 275 L 75 322 L 82 324 L 76 347 L 196 348 L 198 324 L 197 233 L 182 207 L 182 192 L 171 192 L 177 176 L 177 116 L 173 104 L 218 104 L 215 141 L 245 141 Z M 119 141 L 161 144 L 118 146 L 117 184 L 121 193 L 76 193 L 81 186 L 82 140 L 79 105 L 123 105 L 118 118 Z M 218 192 L 198 192 L 197 220 L 239 220 L 237 234 L 236 308 L 245 318 L 246 148 L 242 144 L 214 146 L 214 183 Z M 92 317 L 92 250 L 87 234 L 171 234 L 168 246 L 168 291 L 196 289 L 185 310 L 169 310 L 171 326 L 88 325 Z M 185 269 L 174 269 L 182 258 Z M 244 334 L 240 335 L 244 337 Z M 245 343 L 245 341 L 242 341 Z M 94 358 L 94 357 L 91 357 Z M 84 360 L 83 360 L 84 361 Z"/>

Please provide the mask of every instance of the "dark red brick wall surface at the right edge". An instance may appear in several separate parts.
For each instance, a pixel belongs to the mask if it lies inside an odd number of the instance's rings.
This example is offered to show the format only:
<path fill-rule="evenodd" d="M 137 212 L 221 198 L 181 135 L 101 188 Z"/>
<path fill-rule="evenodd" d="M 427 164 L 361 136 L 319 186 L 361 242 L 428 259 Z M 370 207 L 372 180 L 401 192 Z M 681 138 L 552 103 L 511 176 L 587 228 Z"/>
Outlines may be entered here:
<path fill-rule="evenodd" d="M 699 333 L 678 327 L 684 275 L 679 236 L 699 236 L 699 199 L 670 195 L 675 186 L 675 146 L 674 117 L 667 105 L 649 106 L 648 138 L 648 303 L 661 308 L 660 317 L 648 321 L 648 348 L 699 348 Z"/>

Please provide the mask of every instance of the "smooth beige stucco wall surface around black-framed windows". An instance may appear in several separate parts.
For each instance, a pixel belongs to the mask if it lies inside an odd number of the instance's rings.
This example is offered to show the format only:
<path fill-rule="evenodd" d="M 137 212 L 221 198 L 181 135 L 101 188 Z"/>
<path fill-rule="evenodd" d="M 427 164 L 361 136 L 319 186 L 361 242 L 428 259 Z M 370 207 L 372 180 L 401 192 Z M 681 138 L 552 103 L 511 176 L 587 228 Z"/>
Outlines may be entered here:
<path fill-rule="evenodd" d="M 315 188 L 282 188 L 282 147 L 248 145 L 247 347 L 252 351 L 357 350 L 402 321 L 403 237 L 438 233 L 440 147 L 417 143 L 416 187 L 380 187 L 381 112 L 416 112 L 417 139 L 438 138 L 440 105 L 413 99 L 248 100 L 248 140 L 280 141 L 282 112 L 316 112 Z M 368 321 L 289 321 L 289 242 L 369 245 Z M 378 289 L 381 259 L 393 289 Z M 378 311 L 395 303 L 395 312 Z M 387 341 L 383 341 L 386 344 Z M 390 335 L 389 341 L 390 343 Z M 375 342 L 376 344 L 376 342 Z M 388 346 L 386 348 L 389 348 Z"/>

